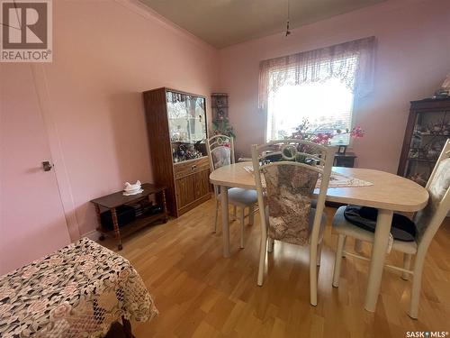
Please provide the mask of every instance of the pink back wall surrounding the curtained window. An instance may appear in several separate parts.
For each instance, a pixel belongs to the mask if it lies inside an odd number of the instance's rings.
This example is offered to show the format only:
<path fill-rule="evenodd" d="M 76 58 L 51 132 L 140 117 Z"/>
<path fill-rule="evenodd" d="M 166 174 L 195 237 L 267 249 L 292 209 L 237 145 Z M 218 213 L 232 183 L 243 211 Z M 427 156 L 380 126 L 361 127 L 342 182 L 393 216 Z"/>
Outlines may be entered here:
<path fill-rule="evenodd" d="M 430 96 L 450 70 L 450 2 L 389 0 L 349 14 L 220 50 L 220 89 L 229 93 L 237 152 L 264 142 L 266 116 L 257 110 L 258 64 L 304 50 L 374 35 L 375 88 L 356 103 L 366 131 L 354 143 L 361 168 L 397 171 L 410 100 Z"/>

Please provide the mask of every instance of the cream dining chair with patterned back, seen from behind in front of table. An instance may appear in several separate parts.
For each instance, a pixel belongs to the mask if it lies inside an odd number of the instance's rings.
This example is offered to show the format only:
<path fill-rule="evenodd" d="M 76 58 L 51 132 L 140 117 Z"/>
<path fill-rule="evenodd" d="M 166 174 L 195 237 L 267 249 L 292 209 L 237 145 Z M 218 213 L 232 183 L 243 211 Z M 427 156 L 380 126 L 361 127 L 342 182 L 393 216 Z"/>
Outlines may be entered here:
<path fill-rule="evenodd" d="M 335 151 L 332 147 L 296 139 L 252 146 L 261 218 L 257 285 L 263 285 L 266 251 L 273 251 L 275 240 L 302 246 L 310 244 L 312 306 L 317 305 L 317 266 L 326 223 L 323 210 Z M 276 158 L 279 160 L 272 160 Z M 311 199 L 319 178 L 319 197 L 314 209 Z"/>

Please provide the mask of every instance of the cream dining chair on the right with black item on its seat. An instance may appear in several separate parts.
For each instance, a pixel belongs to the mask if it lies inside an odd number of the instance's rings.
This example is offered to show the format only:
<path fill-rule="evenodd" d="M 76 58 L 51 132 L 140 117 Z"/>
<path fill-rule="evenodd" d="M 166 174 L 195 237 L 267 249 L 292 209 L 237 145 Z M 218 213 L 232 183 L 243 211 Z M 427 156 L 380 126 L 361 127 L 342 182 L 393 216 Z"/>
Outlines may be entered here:
<path fill-rule="evenodd" d="M 433 237 L 437 233 L 439 226 L 450 211 L 450 139 L 437 160 L 426 189 L 428 190 L 428 205 L 413 217 L 416 227 L 416 236 L 413 242 L 402 242 L 393 240 L 392 250 L 403 253 L 403 267 L 386 265 L 389 268 L 400 270 L 403 279 L 412 275 L 412 291 L 410 299 L 409 315 L 417 319 L 419 313 L 419 296 L 422 279 L 422 270 L 427 255 L 428 247 Z M 355 224 L 347 221 L 344 215 L 346 206 L 341 206 L 333 219 L 333 232 L 338 233 L 338 249 L 336 252 L 336 262 L 333 274 L 333 286 L 338 288 L 340 268 L 343 256 L 351 256 L 368 260 L 363 256 L 345 251 L 347 236 L 353 237 L 363 242 L 374 242 L 374 233 L 364 230 Z M 412 255 L 415 255 L 414 267 L 411 270 L 410 264 Z M 369 280 L 369 283 L 371 281 Z"/>

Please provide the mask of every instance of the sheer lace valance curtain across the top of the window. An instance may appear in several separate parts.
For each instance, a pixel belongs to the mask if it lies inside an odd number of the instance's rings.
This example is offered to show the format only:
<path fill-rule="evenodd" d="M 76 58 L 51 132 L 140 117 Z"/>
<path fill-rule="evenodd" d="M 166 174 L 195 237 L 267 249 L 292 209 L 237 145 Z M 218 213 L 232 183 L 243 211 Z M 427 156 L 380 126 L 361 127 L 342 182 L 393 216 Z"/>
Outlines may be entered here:
<path fill-rule="evenodd" d="M 266 108 L 270 92 L 285 85 L 338 78 L 355 96 L 366 96 L 374 86 L 375 37 L 348 41 L 275 59 L 259 65 L 258 106 Z"/>

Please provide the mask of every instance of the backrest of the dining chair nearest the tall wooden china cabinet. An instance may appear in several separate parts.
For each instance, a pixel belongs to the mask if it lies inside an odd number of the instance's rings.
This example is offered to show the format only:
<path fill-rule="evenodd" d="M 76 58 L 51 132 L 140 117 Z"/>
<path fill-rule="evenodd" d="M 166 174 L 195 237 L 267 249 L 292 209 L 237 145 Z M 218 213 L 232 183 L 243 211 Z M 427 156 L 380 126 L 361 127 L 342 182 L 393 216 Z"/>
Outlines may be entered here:
<path fill-rule="evenodd" d="M 234 140 L 227 135 L 214 135 L 206 140 L 206 151 L 210 159 L 211 171 L 234 163 Z M 214 194 L 219 194 L 218 188 L 214 186 Z"/>

